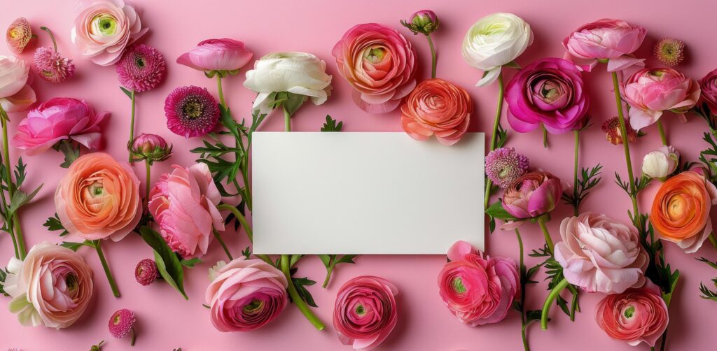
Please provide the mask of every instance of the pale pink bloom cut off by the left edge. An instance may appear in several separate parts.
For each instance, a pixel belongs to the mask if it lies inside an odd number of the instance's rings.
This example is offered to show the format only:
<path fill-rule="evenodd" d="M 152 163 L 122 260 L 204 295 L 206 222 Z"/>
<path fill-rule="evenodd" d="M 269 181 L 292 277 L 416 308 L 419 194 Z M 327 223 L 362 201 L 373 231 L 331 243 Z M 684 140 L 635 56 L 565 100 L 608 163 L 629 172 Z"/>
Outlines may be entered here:
<path fill-rule="evenodd" d="M 0 105 L 5 112 L 19 112 L 35 102 L 27 80 L 30 67 L 22 59 L 0 55 Z"/>

